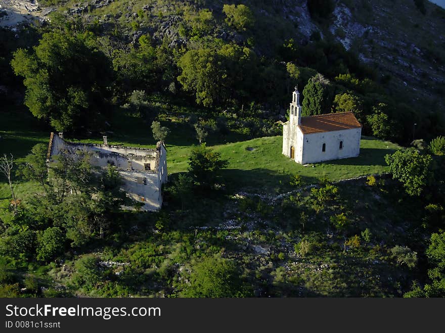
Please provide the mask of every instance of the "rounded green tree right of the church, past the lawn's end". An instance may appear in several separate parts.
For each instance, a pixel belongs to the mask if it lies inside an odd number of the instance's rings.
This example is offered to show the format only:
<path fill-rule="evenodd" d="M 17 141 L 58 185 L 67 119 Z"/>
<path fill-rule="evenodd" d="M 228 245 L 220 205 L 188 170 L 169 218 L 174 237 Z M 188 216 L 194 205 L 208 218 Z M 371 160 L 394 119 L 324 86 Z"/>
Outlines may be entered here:
<path fill-rule="evenodd" d="M 421 155 L 414 148 L 388 154 L 385 161 L 392 177 L 404 184 L 405 191 L 410 196 L 420 196 L 433 177 L 431 156 Z"/>

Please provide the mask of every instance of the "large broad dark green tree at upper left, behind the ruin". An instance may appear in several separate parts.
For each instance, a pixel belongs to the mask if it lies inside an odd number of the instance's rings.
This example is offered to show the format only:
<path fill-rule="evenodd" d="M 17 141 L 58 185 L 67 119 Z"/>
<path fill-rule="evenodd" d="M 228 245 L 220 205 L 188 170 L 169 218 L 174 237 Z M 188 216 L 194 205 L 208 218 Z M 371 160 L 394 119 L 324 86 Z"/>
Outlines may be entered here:
<path fill-rule="evenodd" d="M 17 50 L 11 65 L 24 77 L 25 105 L 35 117 L 60 131 L 103 126 L 113 71 L 91 33 L 44 33 L 32 51 Z"/>

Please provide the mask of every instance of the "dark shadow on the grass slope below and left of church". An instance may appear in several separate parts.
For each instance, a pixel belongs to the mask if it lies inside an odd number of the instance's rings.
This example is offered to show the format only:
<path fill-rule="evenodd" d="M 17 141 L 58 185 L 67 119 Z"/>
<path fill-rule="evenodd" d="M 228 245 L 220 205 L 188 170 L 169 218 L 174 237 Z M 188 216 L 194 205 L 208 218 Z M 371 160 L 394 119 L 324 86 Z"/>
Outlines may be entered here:
<path fill-rule="evenodd" d="M 252 190 L 255 193 L 283 193 L 296 187 L 289 184 L 289 174 L 278 173 L 268 169 L 225 169 L 221 171 L 222 178 L 230 192 Z M 301 176 L 302 184 L 319 182 L 317 177 Z"/>

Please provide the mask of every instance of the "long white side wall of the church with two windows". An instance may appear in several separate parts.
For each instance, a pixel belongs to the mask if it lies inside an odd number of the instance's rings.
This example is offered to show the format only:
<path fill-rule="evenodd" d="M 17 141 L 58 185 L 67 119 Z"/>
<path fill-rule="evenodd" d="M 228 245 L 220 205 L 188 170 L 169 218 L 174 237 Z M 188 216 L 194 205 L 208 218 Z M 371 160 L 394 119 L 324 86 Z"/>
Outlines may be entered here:
<path fill-rule="evenodd" d="M 303 135 L 302 164 L 317 163 L 349 157 L 357 157 L 360 153 L 361 128 L 352 128 L 333 132 Z M 343 148 L 339 149 L 340 141 Z M 323 144 L 326 151 L 323 152 Z"/>

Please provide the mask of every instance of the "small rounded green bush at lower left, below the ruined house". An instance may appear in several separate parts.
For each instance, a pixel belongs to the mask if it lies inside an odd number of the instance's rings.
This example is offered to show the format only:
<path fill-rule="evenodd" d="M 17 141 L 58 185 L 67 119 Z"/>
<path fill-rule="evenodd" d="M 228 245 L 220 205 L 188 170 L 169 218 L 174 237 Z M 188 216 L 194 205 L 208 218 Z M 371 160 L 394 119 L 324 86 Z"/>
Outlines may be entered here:
<path fill-rule="evenodd" d="M 37 233 L 37 260 L 48 262 L 64 248 L 65 234 L 58 227 Z"/>

